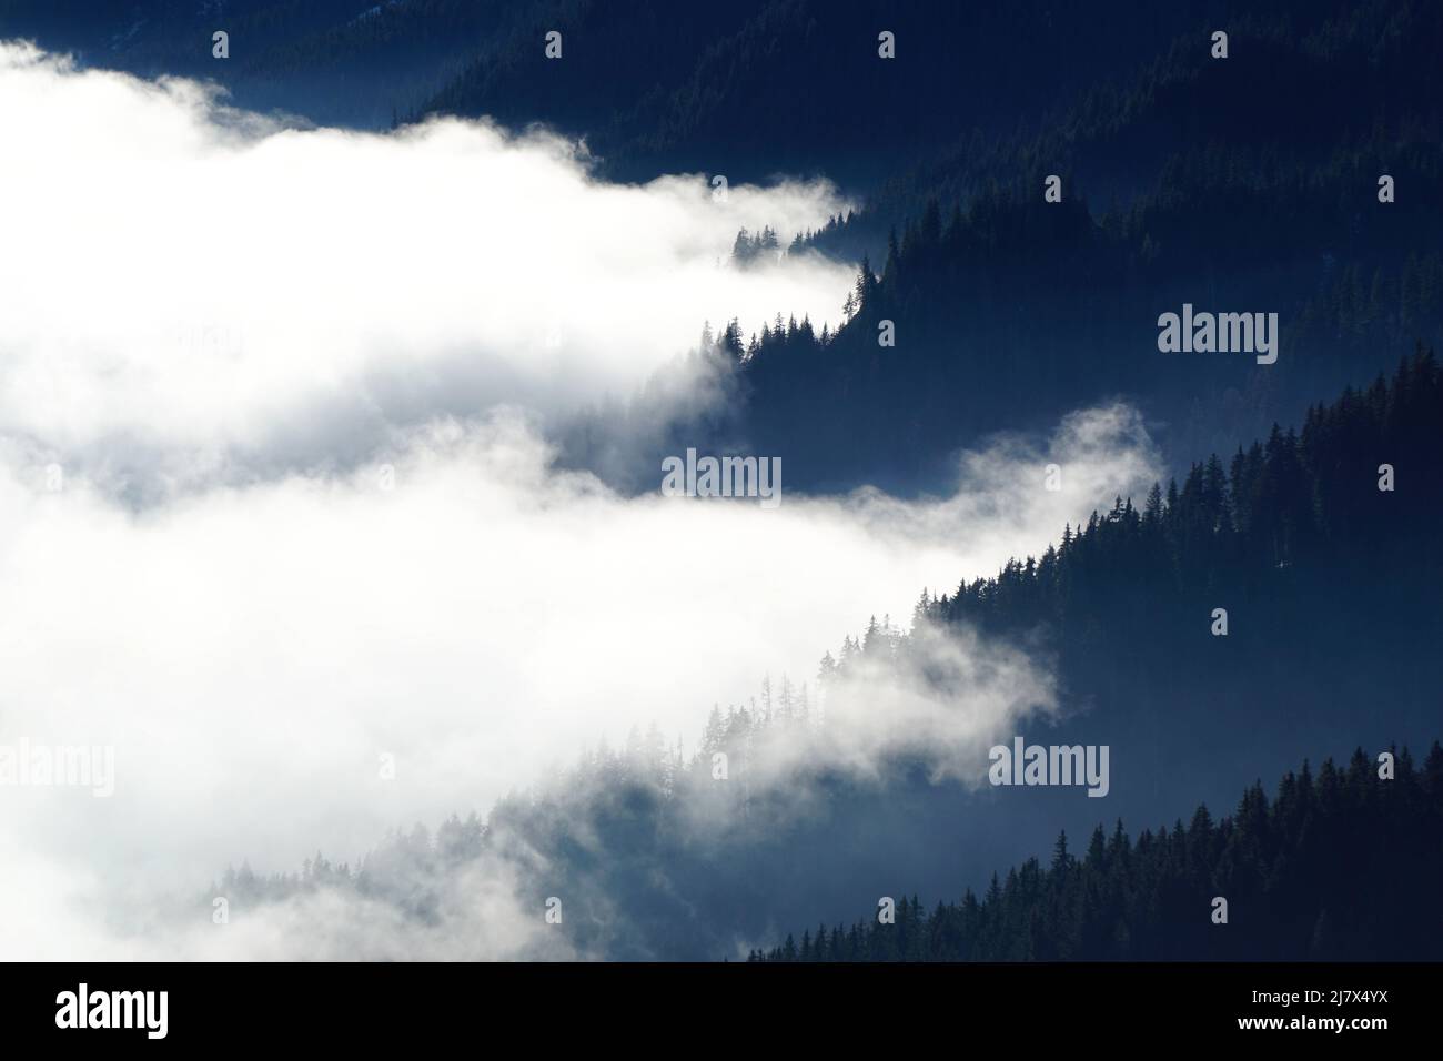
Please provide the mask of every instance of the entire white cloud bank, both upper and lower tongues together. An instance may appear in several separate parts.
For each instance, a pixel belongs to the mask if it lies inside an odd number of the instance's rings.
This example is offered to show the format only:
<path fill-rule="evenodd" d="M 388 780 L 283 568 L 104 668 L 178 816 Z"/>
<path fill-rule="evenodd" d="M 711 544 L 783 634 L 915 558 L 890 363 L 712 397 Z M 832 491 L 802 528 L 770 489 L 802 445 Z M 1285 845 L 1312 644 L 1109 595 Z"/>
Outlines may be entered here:
<path fill-rule="evenodd" d="M 0 745 L 115 749 L 110 798 L 0 788 L 7 956 L 377 956 L 341 924 L 387 956 L 537 953 L 506 866 L 430 934 L 326 896 L 228 935 L 146 911 L 485 811 L 635 725 L 696 735 L 1157 472 L 1121 407 L 967 455 L 939 499 L 784 479 L 766 511 L 561 471 L 548 414 L 703 319 L 830 319 L 848 268 L 723 263 L 743 225 L 837 209 L 827 185 L 612 186 L 544 134 L 296 130 L 22 45 L 0 144 Z M 1051 697 L 1035 661 L 944 648 L 957 696 L 899 700 L 939 774 Z M 890 730 L 841 707 L 828 755 L 874 771 Z"/>

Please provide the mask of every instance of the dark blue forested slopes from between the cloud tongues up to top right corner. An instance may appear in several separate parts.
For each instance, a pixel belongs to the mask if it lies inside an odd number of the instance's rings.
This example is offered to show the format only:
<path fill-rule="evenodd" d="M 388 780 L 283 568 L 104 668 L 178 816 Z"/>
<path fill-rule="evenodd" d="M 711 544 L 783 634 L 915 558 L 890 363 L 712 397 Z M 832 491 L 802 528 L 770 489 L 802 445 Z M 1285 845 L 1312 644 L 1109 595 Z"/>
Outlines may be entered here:
<path fill-rule="evenodd" d="M 747 346 L 750 442 L 798 482 L 937 491 L 980 433 L 1121 394 L 1186 460 L 1437 344 L 1443 85 L 1426 53 L 1443 9 L 1326 12 L 1229 23 L 1225 62 L 1175 39 L 798 241 L 863 276 L 831 342 L 769 329 Z M 1380 204 L 1380 175 L 1404 173 L 1416 198 Z M 1157 315 L 1185 302 L 1278 312 L 1278 362 L 1159 355 Z"/>

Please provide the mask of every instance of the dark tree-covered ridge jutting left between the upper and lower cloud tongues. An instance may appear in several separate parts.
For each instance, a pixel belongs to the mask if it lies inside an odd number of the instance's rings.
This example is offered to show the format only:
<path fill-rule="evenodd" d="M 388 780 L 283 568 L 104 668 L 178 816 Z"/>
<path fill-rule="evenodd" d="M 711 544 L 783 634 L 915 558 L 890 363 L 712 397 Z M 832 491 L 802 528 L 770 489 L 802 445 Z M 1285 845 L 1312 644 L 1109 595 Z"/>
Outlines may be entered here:
<path fill-rule="evenodd" d="M 1297 420 L 1443 336 L 1436 140 L 1274 170 L 1198 147 L 1176 169 L 1101 212 L 1066 178 L 1045 202 L 1040 172 L 965 205 L 929 199 L 885 257 L 863 257 L 830 344 L 760 336 L 740 372 L 753 447 L 789 459 L 794 482 L 937 491 L 945 455 L 981 435 L 1126 396 L 1185 458 Z M 1407 172 L 1418 198 L 1380 204 L 1384 172 Z M 1183 303 L 1277 312 L 1278 362 L 1159 352 L 1157 318 Z"/>

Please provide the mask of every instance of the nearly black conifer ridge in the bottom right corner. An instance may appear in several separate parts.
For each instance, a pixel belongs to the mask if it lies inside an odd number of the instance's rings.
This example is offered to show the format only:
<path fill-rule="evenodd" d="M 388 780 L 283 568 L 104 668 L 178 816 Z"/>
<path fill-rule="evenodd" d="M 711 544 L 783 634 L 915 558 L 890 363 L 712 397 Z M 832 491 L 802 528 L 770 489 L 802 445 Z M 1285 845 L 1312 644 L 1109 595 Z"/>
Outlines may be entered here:
<path fill-rule="evenodd" d="M 1049 865 L 993 875 L 978 898 L 895 921 L 788 935 L 753 961 L 1439 960 L 1443 927 L 1443 748 L 1392 777 L 1356 751 L 1345 768 L 1289 772 L 1270 801 L 1254 784 L 1214 821 L 1143 830 L 1098 824 L 1081 855 L 1058 836 Z M 1214 899 L 1227 899 L 1227 922 Z"/>

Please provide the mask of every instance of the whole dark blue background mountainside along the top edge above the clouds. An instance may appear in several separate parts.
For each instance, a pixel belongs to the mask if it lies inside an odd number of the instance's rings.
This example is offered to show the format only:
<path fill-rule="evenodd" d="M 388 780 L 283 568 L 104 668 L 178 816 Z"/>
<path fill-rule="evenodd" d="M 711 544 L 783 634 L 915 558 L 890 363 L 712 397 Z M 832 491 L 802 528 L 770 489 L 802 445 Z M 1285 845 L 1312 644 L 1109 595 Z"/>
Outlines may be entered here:
<path fill-rule="evenodd" d="M 1294 3 L 1312 27 L 1319 3 Z M 1336 7 L 1333 4 L 1332 7 Z M 427 114 L 544 121 L 618 179 L 821 172 L 872 182 L 974 130 L 1012 133 L 1245 4 L 1127 0 L 0 0 L 0 35 L 146 75 L 212 77 L 247 107 L 369 127 Z M 1120 17 L 1126 16 L 1126 17 Z M 211 61 L 211 33 L 231 58 Z M 563 35 L 561 61 L 543 51 Z M 877 59 L 896 35 L 898 61 Z"/>

